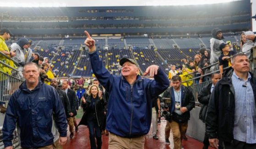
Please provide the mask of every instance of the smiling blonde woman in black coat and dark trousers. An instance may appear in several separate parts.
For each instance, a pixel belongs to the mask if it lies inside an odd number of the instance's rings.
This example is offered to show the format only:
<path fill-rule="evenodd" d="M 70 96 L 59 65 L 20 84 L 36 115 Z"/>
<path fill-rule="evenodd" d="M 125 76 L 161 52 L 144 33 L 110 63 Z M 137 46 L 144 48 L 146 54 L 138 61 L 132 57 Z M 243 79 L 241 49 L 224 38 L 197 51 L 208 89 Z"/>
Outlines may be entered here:
<path fill-rule="evenodd" d="M 90 134 L 91 149 L 101 149 L 101 131 L 104 121 L 104 105 L 105 101 L 102 98 L 102 91 L 97 85 L 92 85 L 87 91 L 87 98 L 82 97 L 82 107 L 84 114 L 79 125 L 87 125 Z M 97 145 L 95 142 L 97 139 Z"/>

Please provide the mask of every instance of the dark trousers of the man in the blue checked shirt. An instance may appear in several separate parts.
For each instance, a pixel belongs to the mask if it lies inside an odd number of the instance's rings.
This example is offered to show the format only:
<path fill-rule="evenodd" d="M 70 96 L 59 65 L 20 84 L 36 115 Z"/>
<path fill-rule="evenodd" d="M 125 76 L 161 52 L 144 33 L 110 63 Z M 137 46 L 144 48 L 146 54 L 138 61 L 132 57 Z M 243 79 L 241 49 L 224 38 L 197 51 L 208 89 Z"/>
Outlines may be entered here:
<path fill-rule="evenodd" d="M 234 140 L 233 144 L 219 141 L 219 149 L 256 149 L 256 144 Z"/>

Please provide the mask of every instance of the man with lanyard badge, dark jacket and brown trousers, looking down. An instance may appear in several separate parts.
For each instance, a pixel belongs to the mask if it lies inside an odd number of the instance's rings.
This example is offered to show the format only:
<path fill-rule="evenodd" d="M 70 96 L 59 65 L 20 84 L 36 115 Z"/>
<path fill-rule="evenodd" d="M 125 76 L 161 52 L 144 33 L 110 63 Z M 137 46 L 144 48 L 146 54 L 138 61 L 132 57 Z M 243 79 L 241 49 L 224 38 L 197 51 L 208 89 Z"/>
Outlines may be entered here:
<path fill-rule="evenodd" d="M 190 111 L 195 107 L 195 98 L 192 92 L 181 85 L 181 77 L 174 76 L 171 79 L 172 87 L 163 93 L 163 98 L 170 98 L 169 114 L 166 116 L 165 140 L 169 142 L 170 128 L 173 131 L 174 149 L 182 147 L 181 141 L 185 136 L 190 118 Z"/>

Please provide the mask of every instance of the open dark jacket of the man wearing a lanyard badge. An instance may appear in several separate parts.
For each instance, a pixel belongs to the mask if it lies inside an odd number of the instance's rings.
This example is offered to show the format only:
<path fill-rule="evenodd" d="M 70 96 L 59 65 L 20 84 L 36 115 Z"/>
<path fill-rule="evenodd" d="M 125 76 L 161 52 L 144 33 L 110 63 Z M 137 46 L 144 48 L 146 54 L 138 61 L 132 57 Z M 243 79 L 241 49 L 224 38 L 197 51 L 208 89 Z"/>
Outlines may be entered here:
<path fill-rule="evenodd" d="M 186 107 L 188 111 L 183 113 L 182 115 L 189 120 L 190 118 L 190 111 L 195 108 L 195 98 L 193 96 L 193 93 L 187 88 L 181 85 L 181 105 L 182 107 Z M 166 91 L 163 92 L 162 98 L 170 98 L 171 104 L 169 105 L 169 112 L 173 113 L 175 108 L 175 97 L 173 92 L 173 87 L 170 87 Z M 166 118 L 166 120 L 171 121 L 170 118 Z"/>

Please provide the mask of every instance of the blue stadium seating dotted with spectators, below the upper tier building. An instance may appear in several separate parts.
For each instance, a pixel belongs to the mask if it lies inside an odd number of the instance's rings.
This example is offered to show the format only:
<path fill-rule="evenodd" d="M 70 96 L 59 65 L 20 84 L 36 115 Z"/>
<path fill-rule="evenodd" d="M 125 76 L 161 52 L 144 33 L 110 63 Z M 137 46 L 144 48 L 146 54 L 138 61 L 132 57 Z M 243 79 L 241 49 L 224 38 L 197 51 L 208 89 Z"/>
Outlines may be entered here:
<path fill-rule="evenodd" d="M 113 70 L 113 74 L 116 72 L 120 74 L 118 67 L 119 60 L 122 57 L 135 59 L 142 72 L 146 71 L 146 68 L 153 64 L 165 69 L 169 64 L 180 65 L 182 63 L 180 60 L 183 58 L 193 59 L 203 43 L 207 48 L 210 48 L 211 38 L 209 36 L 201 37 L 201 40 L 197 37 L 183 39 L 155 38 L 149 40 L 146 37 L 127 37 L 95 39 L 95 41 L 104 65 L 108 66 L 109 71 Z M 236 36 L 236 38 L 239 39 L 240 36 Z M 225 36 L 223 41 L 236 42 L 234 36 Z M 13 42 L 16 41 L 7 41 L 6 43 L 10 46 Z M 129 47 L 125 48 L 125 42 L 127 46 L 132 46 L 131 49 Z M 54 62 L 53 70 L 56 71 L 58 77 L 92 76 L 89 54 L 87 48 L 83 47 L 83 43 L 84 38 L 33 40 L 31 48 L 34 52 L 38 52 L 40 56 L 48 57 L 50 61 Z M 177 45 L 177 48 L 174 48 L 174 45 Z M 109 50 L 105 50 L 105 46 L 109 46 Z M 136 52 L 136 55 L 134 52 Z M 68 56 L 70 57 L 69 59 Z M 68 64 L 65 65 L 66 61 Z M 60 65 L 61 63 L 64 64 Z M 113 65 L 113 63 L 116 65 Z"/>

